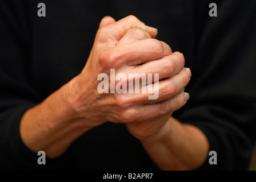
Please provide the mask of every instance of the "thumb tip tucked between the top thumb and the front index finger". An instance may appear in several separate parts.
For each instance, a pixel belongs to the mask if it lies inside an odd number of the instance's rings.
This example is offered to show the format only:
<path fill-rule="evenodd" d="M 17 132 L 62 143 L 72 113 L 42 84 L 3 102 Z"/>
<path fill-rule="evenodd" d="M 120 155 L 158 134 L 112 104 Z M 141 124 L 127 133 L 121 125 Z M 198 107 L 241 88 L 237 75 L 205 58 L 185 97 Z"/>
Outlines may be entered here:
<path fill-rule="evenodd" d="M 122 46 L 131 42 L 135 42 L 136 40 L 143 40 L 143 39 L 150 39 L 151 36 L 139 29 L 139 28 L 132 28 L 131 30 L 127 31 L 125 36 L 117 43 L 117 46 Z"/>

